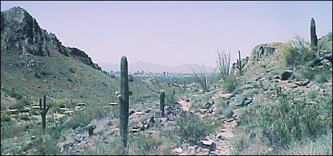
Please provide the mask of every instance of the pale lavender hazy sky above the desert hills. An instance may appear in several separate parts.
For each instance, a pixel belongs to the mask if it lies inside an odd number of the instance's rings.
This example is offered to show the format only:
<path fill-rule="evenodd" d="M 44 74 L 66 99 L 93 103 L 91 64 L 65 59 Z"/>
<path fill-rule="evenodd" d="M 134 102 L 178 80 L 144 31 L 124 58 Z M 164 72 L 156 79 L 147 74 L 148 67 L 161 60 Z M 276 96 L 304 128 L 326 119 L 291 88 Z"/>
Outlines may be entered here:
<path fill-rule="evenodd" d="M 1 1 L 21 6 L 65 46 L 94 62 L 216 66 L 216 51 L 250 55 L 257 44 L 332 31 L 332 1 Z"/>

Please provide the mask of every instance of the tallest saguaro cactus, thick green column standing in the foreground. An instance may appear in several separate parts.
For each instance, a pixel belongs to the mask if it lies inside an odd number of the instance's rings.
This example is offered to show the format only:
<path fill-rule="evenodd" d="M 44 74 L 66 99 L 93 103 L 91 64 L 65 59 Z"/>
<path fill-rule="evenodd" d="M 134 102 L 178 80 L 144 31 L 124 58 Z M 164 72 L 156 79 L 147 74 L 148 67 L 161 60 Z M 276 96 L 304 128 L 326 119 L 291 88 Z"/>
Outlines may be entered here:
<path fill-rule="evenodd" d="M 119 98 L 119 130 L 123 141 L 123 146 L 127 147 L 128 135 L 128 103 L 129 103 L 129 89 L 128 89 L 128 63 L 126 56 L 121 57 L 121 77 L 120 77 L 120 94 Z"/>

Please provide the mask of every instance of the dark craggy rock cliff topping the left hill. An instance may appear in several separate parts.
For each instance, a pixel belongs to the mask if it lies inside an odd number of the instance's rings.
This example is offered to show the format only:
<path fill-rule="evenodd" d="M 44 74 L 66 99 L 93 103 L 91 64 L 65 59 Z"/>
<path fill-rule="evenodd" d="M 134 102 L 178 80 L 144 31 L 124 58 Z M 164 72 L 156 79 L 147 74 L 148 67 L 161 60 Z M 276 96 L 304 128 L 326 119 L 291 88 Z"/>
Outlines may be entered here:
<path fill-rule="evenodd" d="M 85 52 L 62 46 L 56 35 L 40 28 L 36 19 L 23 8 L 15 7 L 1 12 L 1 53 L 50 56 L 53 52 L 101 70 Z"/>

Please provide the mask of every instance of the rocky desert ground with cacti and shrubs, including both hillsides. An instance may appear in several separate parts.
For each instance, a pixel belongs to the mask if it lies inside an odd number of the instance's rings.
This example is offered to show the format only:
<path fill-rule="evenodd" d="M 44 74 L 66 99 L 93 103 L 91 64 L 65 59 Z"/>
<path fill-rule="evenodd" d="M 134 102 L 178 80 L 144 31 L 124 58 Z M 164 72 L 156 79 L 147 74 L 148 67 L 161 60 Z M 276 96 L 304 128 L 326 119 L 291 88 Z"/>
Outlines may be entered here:
<path fill-rule="evenodd" d="M 1 12 L 1 155 L 332 155 L 332 31 L 219 51 L 216 71 L 103 71 L 23 8 Z M 242 58 L 244 57 L 245 58 Z"/>

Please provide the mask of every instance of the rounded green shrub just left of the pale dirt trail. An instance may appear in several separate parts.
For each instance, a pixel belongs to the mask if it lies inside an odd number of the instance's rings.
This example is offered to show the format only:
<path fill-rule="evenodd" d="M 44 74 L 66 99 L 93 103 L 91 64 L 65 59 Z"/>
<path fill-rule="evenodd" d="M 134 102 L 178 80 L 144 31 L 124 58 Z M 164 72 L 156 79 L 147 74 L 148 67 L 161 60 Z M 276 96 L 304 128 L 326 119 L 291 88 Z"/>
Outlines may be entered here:
<path fill-rule="evenodd" d="M 214 132 L 216 125 L 210 119 L 199 119 L 198 116 L 189 112 L 183 112 L 177 120 L 176 133 L 182 139 L 191 144 L 198 144 L 198 141 L 206 135 Z"/>

